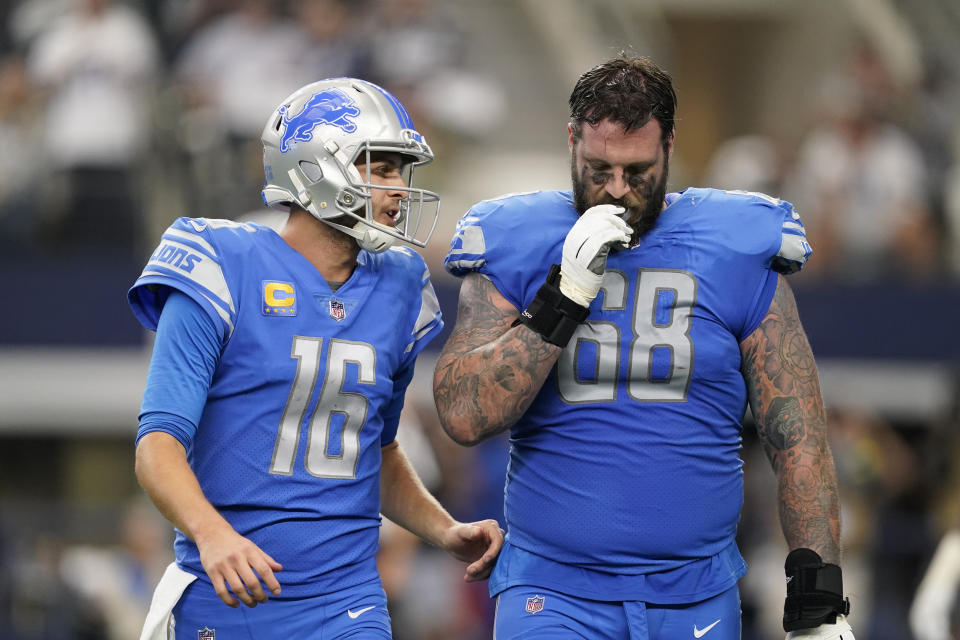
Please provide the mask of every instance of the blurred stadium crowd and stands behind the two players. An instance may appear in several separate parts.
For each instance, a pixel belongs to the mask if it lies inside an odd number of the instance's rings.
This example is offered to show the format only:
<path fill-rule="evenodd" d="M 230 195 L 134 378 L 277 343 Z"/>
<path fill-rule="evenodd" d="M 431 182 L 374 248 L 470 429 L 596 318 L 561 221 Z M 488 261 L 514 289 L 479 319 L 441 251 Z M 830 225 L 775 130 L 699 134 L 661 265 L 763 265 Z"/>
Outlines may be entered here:
<path fill-rule="evenodd" d="M 830 412 L 851 622 L 911 638 L 913 591 L 960 521 L 958 32 L 949 0 L 0 4 L 0 638 L 139 634 L 172 536 L 133 478 L 150 337 L 125 292 L 177 216 L 277 222 L 259 198 L 273 106 L 355 75 L 411 109 L 437 155 L 420 181 L 445 213 L 425 257 L 450 326 L 457 217 L 566 187 L 572 79 L 623 47 L 673 70 L 673 189 L 762 191 L 801 213 L 815 254 L 793 283 Z M 443 436 L 433 346 L 400 438 L 456 517 L 502 521 L 508 444 Z M 744 439 L 752 640 L 777 635 L 785 546 L 772 472 Z M 490 637 L 485 584 L 389 523 L 382 543 L 397 638 Z"/>

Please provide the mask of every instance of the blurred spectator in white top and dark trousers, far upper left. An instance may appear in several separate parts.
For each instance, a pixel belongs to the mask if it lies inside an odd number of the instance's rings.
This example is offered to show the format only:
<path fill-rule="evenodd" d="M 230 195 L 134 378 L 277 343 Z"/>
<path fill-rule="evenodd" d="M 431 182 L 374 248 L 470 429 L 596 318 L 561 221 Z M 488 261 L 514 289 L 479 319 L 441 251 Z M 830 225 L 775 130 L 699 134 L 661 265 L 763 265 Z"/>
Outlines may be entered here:
<path fill-rule="evenodd" d="M 149 25 L 113 0 L 73 0 L 31 41 L 27 63 L 45 101 L 44 163 L 64 189 L 47 239 L 129 253 L 142 239 L 138 168 L 158 64 Z"/>

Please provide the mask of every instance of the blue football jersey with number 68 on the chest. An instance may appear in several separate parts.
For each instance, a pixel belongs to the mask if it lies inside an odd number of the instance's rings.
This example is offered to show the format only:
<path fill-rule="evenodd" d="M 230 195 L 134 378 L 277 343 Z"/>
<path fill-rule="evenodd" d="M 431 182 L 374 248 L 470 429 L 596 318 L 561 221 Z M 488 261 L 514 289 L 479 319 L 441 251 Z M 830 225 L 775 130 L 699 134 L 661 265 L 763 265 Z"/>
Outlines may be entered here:
<path fill-rule="evenodd" d="M 687 189 L 667 202 L 639 246 L 609 255 L 587 321 L 511 430 L 494 592 L 542 583 L 689 602 L 745 571 L 739 342 L 776 271 L 799 269 L 810 247 L 792 205 L 762 194 Z M 577 218 L 565 191 L 481 202 L 444 265 L 486 275 L 524 309 Z"/>

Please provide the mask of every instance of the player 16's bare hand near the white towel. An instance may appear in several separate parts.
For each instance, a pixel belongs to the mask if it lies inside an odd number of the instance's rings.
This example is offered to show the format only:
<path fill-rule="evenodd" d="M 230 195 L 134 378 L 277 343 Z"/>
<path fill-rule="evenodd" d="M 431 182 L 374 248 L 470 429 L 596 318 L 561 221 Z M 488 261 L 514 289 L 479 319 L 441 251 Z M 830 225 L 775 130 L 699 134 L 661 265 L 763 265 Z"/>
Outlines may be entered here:
<path fill-rule="evenodd" d="M 239 606 L 237 598 L 248 607 L 266 602 L 264 586 L 273 595 L 280 595 L 280 583 L 273 572 L 283 566 L 230 527 L 197 540 L 197 548 L 204 571 L 226 605 Z"/>

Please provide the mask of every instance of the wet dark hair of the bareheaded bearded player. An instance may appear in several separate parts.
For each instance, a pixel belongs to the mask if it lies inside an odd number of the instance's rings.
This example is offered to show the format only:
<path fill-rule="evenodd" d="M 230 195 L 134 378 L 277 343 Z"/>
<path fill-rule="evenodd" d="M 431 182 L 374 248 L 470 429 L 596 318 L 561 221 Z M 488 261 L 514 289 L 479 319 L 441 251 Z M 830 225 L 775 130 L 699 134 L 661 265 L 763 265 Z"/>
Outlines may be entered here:
<path fill-rule="evenodd" d="M 650 58 L 621 51 L 577 80 L 570 94 L 570 124 L 574 140 L 579 140 L 584 122 L 596 125 L 609 119 L 630 131 L 655 118 L 666 145 L 673 133 L 676 108 L 670 75 Z"/>

